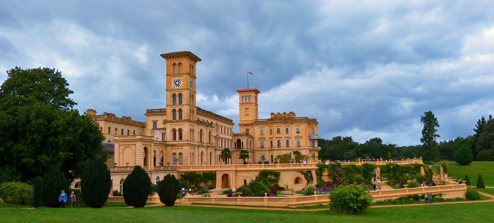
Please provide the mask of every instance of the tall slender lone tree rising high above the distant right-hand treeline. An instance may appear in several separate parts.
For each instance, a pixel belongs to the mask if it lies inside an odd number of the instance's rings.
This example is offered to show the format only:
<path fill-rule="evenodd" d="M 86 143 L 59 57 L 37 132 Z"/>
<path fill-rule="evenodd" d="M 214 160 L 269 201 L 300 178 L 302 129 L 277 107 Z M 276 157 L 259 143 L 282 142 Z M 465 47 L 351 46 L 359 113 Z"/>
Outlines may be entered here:
<path fill-rule="evenodd" d="M 440 137 L 437 134 L 437 128 L 439 128 L 439 123 L 437 118 L 434 116 L 432 111 L 424 112 L 424 115 L 420 116 L 420 121 L 424 123 L 424 128 L 422 129 L 422 138 L 420 142 L 423 143 L 423 148 L 425 150 L 425 160 L 439 160 L 439 149 L 436 139 Z"/>

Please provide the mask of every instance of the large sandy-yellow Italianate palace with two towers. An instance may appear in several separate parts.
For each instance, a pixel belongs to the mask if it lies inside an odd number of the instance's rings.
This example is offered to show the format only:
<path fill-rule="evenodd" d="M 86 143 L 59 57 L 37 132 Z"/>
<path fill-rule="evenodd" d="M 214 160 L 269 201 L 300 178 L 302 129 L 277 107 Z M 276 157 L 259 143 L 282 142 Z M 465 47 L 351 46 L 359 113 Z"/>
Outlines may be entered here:
<path fill-rule="evenodd" d="M 217 189 L 235 188 L 244 180 L 253 180 L 260 170 L 273 169 L 281 172 L 281 186 L 305 186 L 297 171 L 317 169 L 315 160 L 321 150 L 315 118 L 297 117 L 290 111 L 259 119 L 260 91 L 238 89 L 240 132 L 235 133 L 233 120 L 196 105 L 196 89 L 200 87 L 196 63 L 201 59 L 188 51 L 161 56 L 166 60 L 166 105 L 147 109 L 145 122 L 113 113 L 98 114 L 93 109 L 86 111 L 106 137 L 103 146 L 110 152 L 112 190 L 122 191 L 125 177 L 137 165 L 148 172 L 153 182 L 169 173 L 179 178 L 183 172 L 215 171 Z M 232 152 L 226 162 L 220 157 L 224 148 Z M 249 152 L 247 165 L 239 158 L 241 150 Z M 276 162 L 277 155 L 294 151 L 307 155 L 310 162 L 270 165 Z"/>

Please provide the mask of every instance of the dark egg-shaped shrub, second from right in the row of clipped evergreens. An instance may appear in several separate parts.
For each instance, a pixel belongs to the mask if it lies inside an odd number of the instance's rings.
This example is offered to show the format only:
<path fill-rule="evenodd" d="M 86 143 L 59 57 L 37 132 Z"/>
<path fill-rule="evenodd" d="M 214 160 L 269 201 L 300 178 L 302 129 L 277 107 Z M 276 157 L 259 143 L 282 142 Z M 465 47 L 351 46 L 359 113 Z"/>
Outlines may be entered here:
<path fill-rule="evenodd" d="M 124 200 L 127 205 L 142 208 L 151 191 L 151 179 L 142 167 L 135 166 L 124 181 Z"/>

